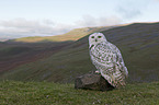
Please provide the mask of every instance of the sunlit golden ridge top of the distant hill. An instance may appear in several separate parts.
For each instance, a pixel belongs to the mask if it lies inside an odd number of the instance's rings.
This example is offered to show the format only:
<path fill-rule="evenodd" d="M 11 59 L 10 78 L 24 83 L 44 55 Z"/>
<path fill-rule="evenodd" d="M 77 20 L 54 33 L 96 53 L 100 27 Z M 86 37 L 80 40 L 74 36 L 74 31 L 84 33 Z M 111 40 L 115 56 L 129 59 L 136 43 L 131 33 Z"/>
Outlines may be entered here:
<path fill-rule="evenodd" d="M 102 26 L 102 27 L 83 27 L 75 28 L 66 34 L 56 35 L 56 36 L 34 36 L 34 37 L 22 37 L 16 39 L 11 39 L 10 42 L 23 42 L 23 43 L 37 43 L 37 42 L 68 42 L 68 40 L 78 40 L 81 37 L 84 37 L 88 34 L 94 32 L 101 32 L 113 26 Z"/>

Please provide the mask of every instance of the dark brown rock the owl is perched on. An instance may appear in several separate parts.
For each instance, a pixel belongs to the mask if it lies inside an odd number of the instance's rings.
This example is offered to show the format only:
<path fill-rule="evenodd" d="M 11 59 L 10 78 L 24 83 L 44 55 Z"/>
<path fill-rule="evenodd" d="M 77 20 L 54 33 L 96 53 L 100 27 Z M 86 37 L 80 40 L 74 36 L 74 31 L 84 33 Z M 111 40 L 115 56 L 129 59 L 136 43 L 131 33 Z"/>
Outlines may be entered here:
<path fill-rule="evenodd" d="M 76 78 L 75 89 L 109 91 L 114 88 L 101 74 L 84 74 Z"/>

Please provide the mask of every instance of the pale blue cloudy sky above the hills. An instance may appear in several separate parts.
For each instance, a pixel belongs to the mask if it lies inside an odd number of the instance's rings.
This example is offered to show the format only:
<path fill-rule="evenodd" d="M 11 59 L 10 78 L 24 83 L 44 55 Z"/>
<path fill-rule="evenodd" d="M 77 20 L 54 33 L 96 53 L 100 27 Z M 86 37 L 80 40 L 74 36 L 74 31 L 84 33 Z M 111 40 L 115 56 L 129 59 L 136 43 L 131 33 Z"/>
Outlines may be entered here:
<path fill-rule="evenodd" d="M 159 22 L 159 0 L 0 0 L 0 38 Z"/>

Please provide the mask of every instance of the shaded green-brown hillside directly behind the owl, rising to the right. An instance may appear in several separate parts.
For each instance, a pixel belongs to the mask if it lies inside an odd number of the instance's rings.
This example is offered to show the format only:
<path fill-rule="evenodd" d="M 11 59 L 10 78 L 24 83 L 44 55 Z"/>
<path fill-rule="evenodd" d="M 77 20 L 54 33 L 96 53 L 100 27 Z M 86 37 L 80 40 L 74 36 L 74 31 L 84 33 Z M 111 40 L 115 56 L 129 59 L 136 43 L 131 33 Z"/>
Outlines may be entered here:
<path fill-rule="evenodd" d="M 121 49 L 129 71 L 129 82 L 159 80 L 158 28 L 159 23 L 136 23 L 102 32 L 109 42 Z M 68 83 L 73 82 L 77 75 L 94 70 L 89 57 L 88 36 L 84 36 L 49 57 L 1 74 L 0 79 Z"/>

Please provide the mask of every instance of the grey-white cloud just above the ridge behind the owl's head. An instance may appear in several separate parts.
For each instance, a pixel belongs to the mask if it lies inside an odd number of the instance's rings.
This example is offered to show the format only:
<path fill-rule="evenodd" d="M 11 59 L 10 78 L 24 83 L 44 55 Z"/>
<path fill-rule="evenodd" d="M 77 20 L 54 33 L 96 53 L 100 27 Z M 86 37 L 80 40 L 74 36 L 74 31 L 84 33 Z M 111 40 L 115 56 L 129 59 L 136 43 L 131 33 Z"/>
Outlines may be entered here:
<path fill-rule="evenodd" d="M 91 27 L 91 26 L 109 26 L 120 24 L 122 20 L 117 16 L 101 16 L 94 18 L 91 15 L 83 15 L 82 20 L 76 22 L 79 26 Z"/>

